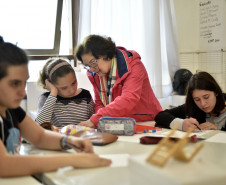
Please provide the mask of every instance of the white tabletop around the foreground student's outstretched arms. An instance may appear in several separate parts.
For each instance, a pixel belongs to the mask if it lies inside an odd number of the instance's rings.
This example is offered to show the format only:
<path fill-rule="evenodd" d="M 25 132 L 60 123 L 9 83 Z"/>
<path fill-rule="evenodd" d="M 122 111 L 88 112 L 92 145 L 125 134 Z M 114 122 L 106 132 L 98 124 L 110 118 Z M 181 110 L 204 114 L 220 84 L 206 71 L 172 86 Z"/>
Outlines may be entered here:
<path fill-rule="evenodd" d="M 133 136 L 130 136 L 133 137 Z M 92 184 L 92 185 L 129 185 L 128 159 L 130 155 L 149 153 L 154 146 L 141 145 L 139 143 L 121 141 L 121 136 L 117 142 L 106 146 L 94 146 L 95 153 L 102 157 L 112 159 L 110 167 L 94 169 L 73 169 L 66 167 L 56 172 L 37 174 L 36 177 L 44 184 Z M 51 155 L 62 152 L 53 152 L 36 149 L 32 146 L 26 148 L 29 155 Z M 69 150 L 68 152 L 74 152 Z M 119 180 L 120 179 L 120 180 Z"/>

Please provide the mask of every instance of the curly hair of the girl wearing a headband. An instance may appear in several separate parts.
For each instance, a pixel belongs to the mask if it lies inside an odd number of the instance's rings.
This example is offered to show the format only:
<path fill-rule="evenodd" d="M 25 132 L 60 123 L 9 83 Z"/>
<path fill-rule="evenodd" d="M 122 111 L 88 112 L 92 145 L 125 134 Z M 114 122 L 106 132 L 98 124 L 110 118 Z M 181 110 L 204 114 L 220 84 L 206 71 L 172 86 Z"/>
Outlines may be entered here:
<path fill-rule="evenodd" d="M 68 65 L 63 65 L 63 66 L 57 68 L 56 70 L 54 70 L 54 72 L 52 73 L 52 75 L 50 77 L 50 72 L 52 71 L 52 69 L 60 63 L 68 63 Z M 64 77 L 65 75 L 67 75 L 71 72 L 75 73 L 75 71 L 72 68 L 72 66 L 70 65 L 68 59 L 62 58 L 62 57 L 49 58 L 47 60 L 47 62 L 45 63 L 43 69 L 40 71 L 38 84 L 41 85 L 44 89 L 46 89 L 46 87 L 45 87 L 46 79 L 50 80 L 53 84 L 57 84 L 58 78 Z"/>

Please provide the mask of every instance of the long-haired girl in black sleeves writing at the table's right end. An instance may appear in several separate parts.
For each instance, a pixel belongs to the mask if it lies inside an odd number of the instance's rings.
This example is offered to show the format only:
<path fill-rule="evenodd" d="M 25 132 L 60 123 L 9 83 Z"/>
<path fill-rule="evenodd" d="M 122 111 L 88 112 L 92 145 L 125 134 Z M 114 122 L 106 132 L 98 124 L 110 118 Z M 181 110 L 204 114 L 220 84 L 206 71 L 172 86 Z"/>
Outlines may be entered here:
<path fill-rule="evenodd" d="M 165 128 L 179 124 L 179 130 L 183 131 L 196 128 L 195 125 L 202 130 L 225 130 L 224 93 L 209 73 L 199 72 L 188 82 L 185 104 L 159 112 L 155 121 L 157 126 Z"/>

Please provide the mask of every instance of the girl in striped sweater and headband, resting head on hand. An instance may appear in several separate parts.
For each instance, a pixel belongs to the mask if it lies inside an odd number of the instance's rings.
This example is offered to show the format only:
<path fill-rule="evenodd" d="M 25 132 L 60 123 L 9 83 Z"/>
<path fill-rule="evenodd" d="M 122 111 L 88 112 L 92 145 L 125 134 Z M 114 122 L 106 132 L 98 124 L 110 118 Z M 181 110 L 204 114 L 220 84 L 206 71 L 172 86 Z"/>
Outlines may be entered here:
<path fill-rule="evenodd" d="M 75 71 L 64 58 L 50 58 L 40 72 L 40 84 L 49 92 L 39 98 L 36 122 L 56 127 L 78 124 L 94 113 L 88 90 L 78 89 Z"/>

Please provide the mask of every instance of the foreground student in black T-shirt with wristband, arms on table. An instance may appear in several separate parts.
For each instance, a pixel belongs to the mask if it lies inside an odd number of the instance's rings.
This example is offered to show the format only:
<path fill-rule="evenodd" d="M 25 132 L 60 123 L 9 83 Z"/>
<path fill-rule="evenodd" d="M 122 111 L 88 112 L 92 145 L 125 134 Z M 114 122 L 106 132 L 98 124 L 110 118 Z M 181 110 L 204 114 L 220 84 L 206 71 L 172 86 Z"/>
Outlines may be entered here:
<path fill-rule="evenodd" d="M 11 43 L 5 43 L 0 37 L 0 177 L 30 175 L 65 166 L 108 166 L 110 160 L 93 154 L 90 140 L 45 130 L 19 107 L 25 96 L 28 77 L 28 59 L 25 52 Z M 21 137 L 38 148 L 49 150 L 66 149 L 67 143 L 72 143 L 87 154 L 13 155 L 19 152 Z M 74 147 L 73 149 L 81 152 Z"/>

